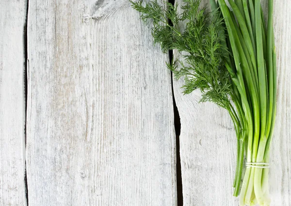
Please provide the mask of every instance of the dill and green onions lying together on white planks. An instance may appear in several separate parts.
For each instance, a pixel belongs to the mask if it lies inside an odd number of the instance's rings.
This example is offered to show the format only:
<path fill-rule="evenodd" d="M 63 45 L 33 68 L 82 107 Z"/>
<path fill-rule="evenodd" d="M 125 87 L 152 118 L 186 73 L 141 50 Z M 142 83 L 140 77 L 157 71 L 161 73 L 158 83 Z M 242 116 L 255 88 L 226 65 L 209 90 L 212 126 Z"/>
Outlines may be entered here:
<path fill-rule="evenodd" d="M 210 0 L 211 11 L 201 8 L 201 0 L 183 0 L 181 11 L 178 4 L 157 0 L 131 3 L 143 21 L 153 24 L 154 43 L 180 54 L 167 66 L 176 78 L 184 77 L 184 93 L 199 89 L 201 102 L 228 111 L 238 143 L 233 187 L 240 205 L 270 205 L 268 166 L 276 114 L 273 0 L 268 0 L 267 22 L 260 0 L 228 0 L 229 6 Z"/>

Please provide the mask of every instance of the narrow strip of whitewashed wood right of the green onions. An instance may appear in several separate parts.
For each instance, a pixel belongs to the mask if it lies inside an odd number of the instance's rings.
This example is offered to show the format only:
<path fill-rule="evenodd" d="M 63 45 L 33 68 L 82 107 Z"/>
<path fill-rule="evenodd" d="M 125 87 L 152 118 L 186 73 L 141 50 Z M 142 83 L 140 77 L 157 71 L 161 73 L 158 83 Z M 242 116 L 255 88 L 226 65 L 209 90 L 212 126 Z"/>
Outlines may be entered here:
<path fill-rule="evenodd" d="M 291 4 L 274 1 L 277 53 L 277 116 L 270 154 L 270 193 L 274 206 L 291 205 Z"/>

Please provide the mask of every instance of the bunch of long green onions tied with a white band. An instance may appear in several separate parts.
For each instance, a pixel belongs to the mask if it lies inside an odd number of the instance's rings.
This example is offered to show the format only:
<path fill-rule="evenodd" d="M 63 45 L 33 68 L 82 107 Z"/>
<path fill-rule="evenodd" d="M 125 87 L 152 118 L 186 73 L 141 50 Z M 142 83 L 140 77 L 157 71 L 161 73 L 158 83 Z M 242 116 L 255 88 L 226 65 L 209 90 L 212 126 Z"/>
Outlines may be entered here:
<path fill-rule="evenodd" d="M 273 0 L 269 0 L 267 28 L 260 0 L 218 0 L 233 58 L 231 78 L 238 87 L 247 121 L 247 166 L 240 191 L 240 205 L 270 205 L 268 166 L 276 113 L 276 55 Z M 210 1 L 214 5 L 214 1 Z M 213 8 L 213 6 L 212 6 Z M 240 75 L 242 77 L 240 78 Z M 243 90 L 242 87 L 245 87 Z M 235 101 L 235 100 L 234 100 Z M 238 147 L 242 148 L 241 145 Z M 243 150 L 238 149 L 239 157 Z M 242 160 L 238 161 L 242 164 Z M 238 196 L 242 166 L 237 166 L 234 195 Z"/>

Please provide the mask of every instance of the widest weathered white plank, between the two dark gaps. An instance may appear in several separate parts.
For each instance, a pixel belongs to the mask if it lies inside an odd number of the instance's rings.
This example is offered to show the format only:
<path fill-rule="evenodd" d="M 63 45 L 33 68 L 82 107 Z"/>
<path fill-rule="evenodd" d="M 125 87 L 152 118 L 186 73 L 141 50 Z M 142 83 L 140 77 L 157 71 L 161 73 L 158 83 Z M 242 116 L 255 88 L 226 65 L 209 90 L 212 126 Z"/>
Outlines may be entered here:
<path fill-rule="evenodd" d="M 176 205 L 168 56 L 150 29 L 128 0 L 29 3 L 30 205 Z"/>

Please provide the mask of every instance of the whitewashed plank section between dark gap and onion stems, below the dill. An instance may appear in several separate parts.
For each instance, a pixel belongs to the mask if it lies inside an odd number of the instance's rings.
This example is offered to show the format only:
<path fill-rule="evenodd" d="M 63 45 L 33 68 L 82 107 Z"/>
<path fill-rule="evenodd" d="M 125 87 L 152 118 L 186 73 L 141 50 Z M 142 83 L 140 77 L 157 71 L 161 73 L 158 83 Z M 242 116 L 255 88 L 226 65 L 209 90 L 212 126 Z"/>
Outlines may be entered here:
<path fill-rule="evenodd" d="M 213 103 L 198 103 L 200 93 L 178 94 L 180 159 L 185 206 L 235 206 L 232 181 L 235 173 L 236 136 L 228 113 Z"/>

